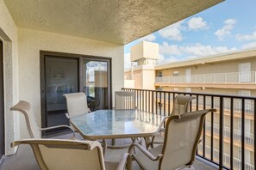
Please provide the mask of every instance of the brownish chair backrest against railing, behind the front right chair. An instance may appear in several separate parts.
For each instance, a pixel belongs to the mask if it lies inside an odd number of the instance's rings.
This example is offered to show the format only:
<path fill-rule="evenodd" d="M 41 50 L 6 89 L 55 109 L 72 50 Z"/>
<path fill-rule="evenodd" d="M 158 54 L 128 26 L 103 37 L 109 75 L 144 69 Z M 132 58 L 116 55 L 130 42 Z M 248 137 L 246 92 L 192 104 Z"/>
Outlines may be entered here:
<path fill-rule="evenodd" d="M 173 115 L 179 115 L 180 113 L 189 112 L 190 108 L 190 101 L 196 99 L 193 96 L 190 95 L 183 95 L 179 94 L 174 99 L 174 105 L 172 107 L 172 113 Z"/>

